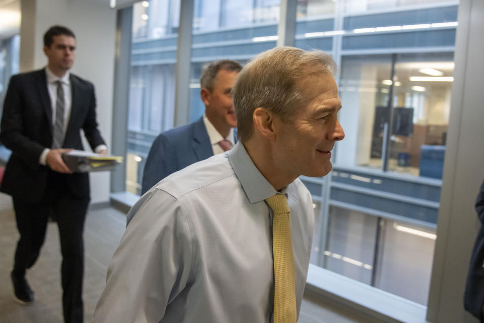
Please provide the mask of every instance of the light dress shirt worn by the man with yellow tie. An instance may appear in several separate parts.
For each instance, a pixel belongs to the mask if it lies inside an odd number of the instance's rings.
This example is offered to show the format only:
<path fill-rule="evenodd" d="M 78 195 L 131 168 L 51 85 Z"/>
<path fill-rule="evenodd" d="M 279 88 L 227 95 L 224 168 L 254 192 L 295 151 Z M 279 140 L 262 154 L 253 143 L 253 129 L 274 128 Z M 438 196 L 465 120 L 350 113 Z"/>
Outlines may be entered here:
<path fill-rule="evenodd" d="M 94 322 L 270 322 L 272 210 L 278 193 L 244 145 L 173 173 L 128 214 Z M 299 314 L 314 212 L 299 179 L 288 197 Z"/>

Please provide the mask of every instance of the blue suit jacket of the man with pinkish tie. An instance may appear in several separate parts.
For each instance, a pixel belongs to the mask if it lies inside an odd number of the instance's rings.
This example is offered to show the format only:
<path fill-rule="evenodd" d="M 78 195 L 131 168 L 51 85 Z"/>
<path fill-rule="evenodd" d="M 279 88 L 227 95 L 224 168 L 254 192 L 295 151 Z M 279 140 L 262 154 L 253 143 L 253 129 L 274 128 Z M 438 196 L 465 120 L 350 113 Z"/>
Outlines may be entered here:
<path fill-rule="evenodd" d="M 234 131 L 235 141 L 237 132 Z M 213 156 L 203 122 L 198 121 L 163 132 L 156 137 L 146 158 L 141 194 L 171 173 Z"/>

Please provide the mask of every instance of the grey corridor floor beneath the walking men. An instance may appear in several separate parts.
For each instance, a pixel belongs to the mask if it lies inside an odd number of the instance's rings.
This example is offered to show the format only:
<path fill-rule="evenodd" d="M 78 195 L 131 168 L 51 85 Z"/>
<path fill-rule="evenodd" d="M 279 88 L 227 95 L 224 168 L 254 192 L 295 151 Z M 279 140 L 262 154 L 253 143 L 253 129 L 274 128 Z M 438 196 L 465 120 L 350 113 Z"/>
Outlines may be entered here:
<path fill-rule="evenodd" d="M 126 216 L 114 208 L 91 210 L 85 229 L 85 321 L 92 321 L 97 300 L 105 282 L 106 270 L 112 253 L 125 230 Z M 10 270 L 18 239 L 10 197 L 0 193 L 0 322 L 56 323 L 62 322 L 61 285 L 59 272 L 61 256 L 54 223 L 48 226 L 42 253 L 28 272 L 27 278 L 35 291 L 36 301 L 22 306 L 12 299 Z M 329 306 L 318 297 L 306 294 L 300 313 L 300 323 L 366 323 L 357 314 Z"/>

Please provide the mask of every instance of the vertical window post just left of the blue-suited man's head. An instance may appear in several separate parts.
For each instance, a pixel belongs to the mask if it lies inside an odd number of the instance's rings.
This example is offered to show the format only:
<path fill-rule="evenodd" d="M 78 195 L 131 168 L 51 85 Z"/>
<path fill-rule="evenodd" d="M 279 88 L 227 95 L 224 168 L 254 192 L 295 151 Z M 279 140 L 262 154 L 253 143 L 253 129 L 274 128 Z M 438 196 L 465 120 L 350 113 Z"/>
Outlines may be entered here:
<path fill-rule="evenodd" d="M 175 127 L 185 125 L 190 116 L 190 62 L 192 59 L 193 0 L 180 0 L 180 23 L 175 68 Z"/>

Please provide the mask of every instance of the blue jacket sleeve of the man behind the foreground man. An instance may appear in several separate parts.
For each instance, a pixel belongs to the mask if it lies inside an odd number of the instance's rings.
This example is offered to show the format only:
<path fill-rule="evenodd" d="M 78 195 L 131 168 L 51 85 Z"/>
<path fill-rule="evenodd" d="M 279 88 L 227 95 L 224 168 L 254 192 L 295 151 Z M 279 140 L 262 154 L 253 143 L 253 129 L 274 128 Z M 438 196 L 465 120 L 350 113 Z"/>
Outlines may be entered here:
<path fill-rule="evenodd" d="M 176 172 L 177 165 L 176 152 L 170 139 L 163 133 L 158 135 L 146 157 L 141 195 L 166 176 Z"/>

